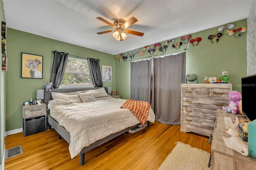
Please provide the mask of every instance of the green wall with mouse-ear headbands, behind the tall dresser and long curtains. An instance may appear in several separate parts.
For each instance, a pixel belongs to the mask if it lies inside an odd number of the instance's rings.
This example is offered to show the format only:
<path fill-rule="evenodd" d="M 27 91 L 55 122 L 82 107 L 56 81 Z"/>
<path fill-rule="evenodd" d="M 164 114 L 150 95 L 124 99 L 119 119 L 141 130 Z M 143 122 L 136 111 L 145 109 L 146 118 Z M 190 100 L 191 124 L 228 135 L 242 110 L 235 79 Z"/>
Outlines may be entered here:
<path fill-rule="evenodd" d="M 209 20 L 210 22 L 210 20 Z M 238 29 L 246 26 L 246 19 L 233 22 L 235 24 L 234 29 Z M 207 23 L 206 23 L 207 24 Z M 229 23 L 227 23 L 229 24 Z M 196 73 L 198 75 L 198 83 L 203 83 L 205 77 L 218 77 L 221 76 L 222 71 L 228 71 L 230 74 L 229 82 L 232 83 L 233 90 L 241 93 L 241 77 L 247 75 L 247 60 L 246 60 L 246 32 L 242 34 L 240 38 L 233 38 L 227 34 L 220 37 L 218 43 L 212 43 L 208 40 L 208 36 L 218 33 L 218 28 L 211 28 L 201 32 L 191 33 L 193 39 L 196 37 L 202 38 L 202 41 L 197 46 L 190 44 L 182 44 L 180 49 L 186 50 L 186 75 Z M 177 27 L 178 28 L 178 27 Z M 225 32 L 227 31 L 224 30 Z M 178 32 L 178 29 L 177 29 Z M 224 33 L 225 33 L 224 32 Z M 238 36 L 238 34 L 235 34 Z M 186 35 L 184 35 L 186 36 Z M 168 37 L 168 33 L 166 33 Z M 171 39 L 167 39 L 171 40 Z M 166 41 L 167 41 L 166 40 Z M 175 42 L 182 42 L 180 37 L 174 38 Z M 161 42 L 162 45 L 166 45 L 165 42 Z M 213 42 L 216 41 L 213 40 Z M 158 43 L 158 42 L 156 42 Z M 153 48 L 153 45 L 149 45 Z M 196 45 L 196 42 L 194 42 Z M 140 48 L 139 51 L 143 51 Z M 166 53 L 175 53 L 176 50 L 173 47 L 168 47 L 165 53 L 156 50 L 153 55 L 164 55 Z M 133 53 L 133 51 L 131 51 Z M 183 52 L 183 51 L 179 51 Z M 143 57 L 148 57 L 150 54 L 146 52 Z M 134 56 L 134 59 L 139 59 L 138 55 Z M 123 99 L 130 99 L 130 58 L 126 61 L 122 60 L 116 62 L 116 92 L 121 95 Z"/>

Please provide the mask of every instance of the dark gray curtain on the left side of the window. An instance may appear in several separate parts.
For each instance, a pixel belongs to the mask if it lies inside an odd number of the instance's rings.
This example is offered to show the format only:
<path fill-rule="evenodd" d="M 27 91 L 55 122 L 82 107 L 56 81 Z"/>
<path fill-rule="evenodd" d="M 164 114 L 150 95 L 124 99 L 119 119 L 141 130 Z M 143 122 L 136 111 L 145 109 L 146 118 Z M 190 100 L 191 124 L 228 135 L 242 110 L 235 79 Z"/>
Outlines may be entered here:
<path fill-rule="evenodd" d="M 54 89 L 60 86 L 68 62 L 68 55 L 69 53 L 54 51 L 51 75 L 52 87 Z"/>

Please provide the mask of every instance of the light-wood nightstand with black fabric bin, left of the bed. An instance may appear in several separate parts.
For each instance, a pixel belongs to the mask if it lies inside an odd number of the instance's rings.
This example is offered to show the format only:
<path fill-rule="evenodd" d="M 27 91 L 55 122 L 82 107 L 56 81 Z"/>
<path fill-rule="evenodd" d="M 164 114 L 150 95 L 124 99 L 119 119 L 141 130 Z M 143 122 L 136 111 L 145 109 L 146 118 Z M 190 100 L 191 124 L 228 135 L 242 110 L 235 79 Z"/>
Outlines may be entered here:
<path fill-rule="evenodd" d="M 22 117 L 24 136 L 46 131 L 46 104 L 22 106 Z"/>

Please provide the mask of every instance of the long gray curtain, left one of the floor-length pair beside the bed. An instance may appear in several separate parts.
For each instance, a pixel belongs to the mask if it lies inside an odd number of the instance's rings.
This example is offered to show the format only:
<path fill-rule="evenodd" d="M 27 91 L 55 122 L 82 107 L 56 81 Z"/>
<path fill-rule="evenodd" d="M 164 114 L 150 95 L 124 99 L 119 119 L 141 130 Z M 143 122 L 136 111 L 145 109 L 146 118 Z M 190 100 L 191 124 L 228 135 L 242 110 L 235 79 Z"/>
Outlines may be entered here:
<path fill-rule="evenodd" d="M 151 102 L 152 59 L 130 63 L 131 99 Z"/>

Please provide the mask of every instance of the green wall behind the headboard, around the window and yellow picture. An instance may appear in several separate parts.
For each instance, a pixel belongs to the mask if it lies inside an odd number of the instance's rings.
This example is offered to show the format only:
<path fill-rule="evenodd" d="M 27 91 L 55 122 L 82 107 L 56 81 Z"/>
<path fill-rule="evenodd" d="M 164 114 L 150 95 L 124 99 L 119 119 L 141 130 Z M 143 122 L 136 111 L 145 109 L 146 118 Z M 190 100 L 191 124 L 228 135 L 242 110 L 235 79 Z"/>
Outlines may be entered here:
<path fill-rule="evenodd" d="M 6 25 L 8 26 L 8 23 Z M 100 67 L 102 65 L 112 66 L 112 82 L 103 82 L 103 86 L 115 89 L 115 61 L 113 55 L 11 28 L 7 28 L 6 44 L 8 54 L 5 94 L 6 131 L 22 128 L 22 105 L 24 101 L 36 98 L 36 89 L 43 89 L 44 83 L 50 81 L 53 61 L 52 51 L 54 50 L 81 57 L 100 59 Z M 21 78 L 21 53 L 43 56 L 43 79 Z"/>

